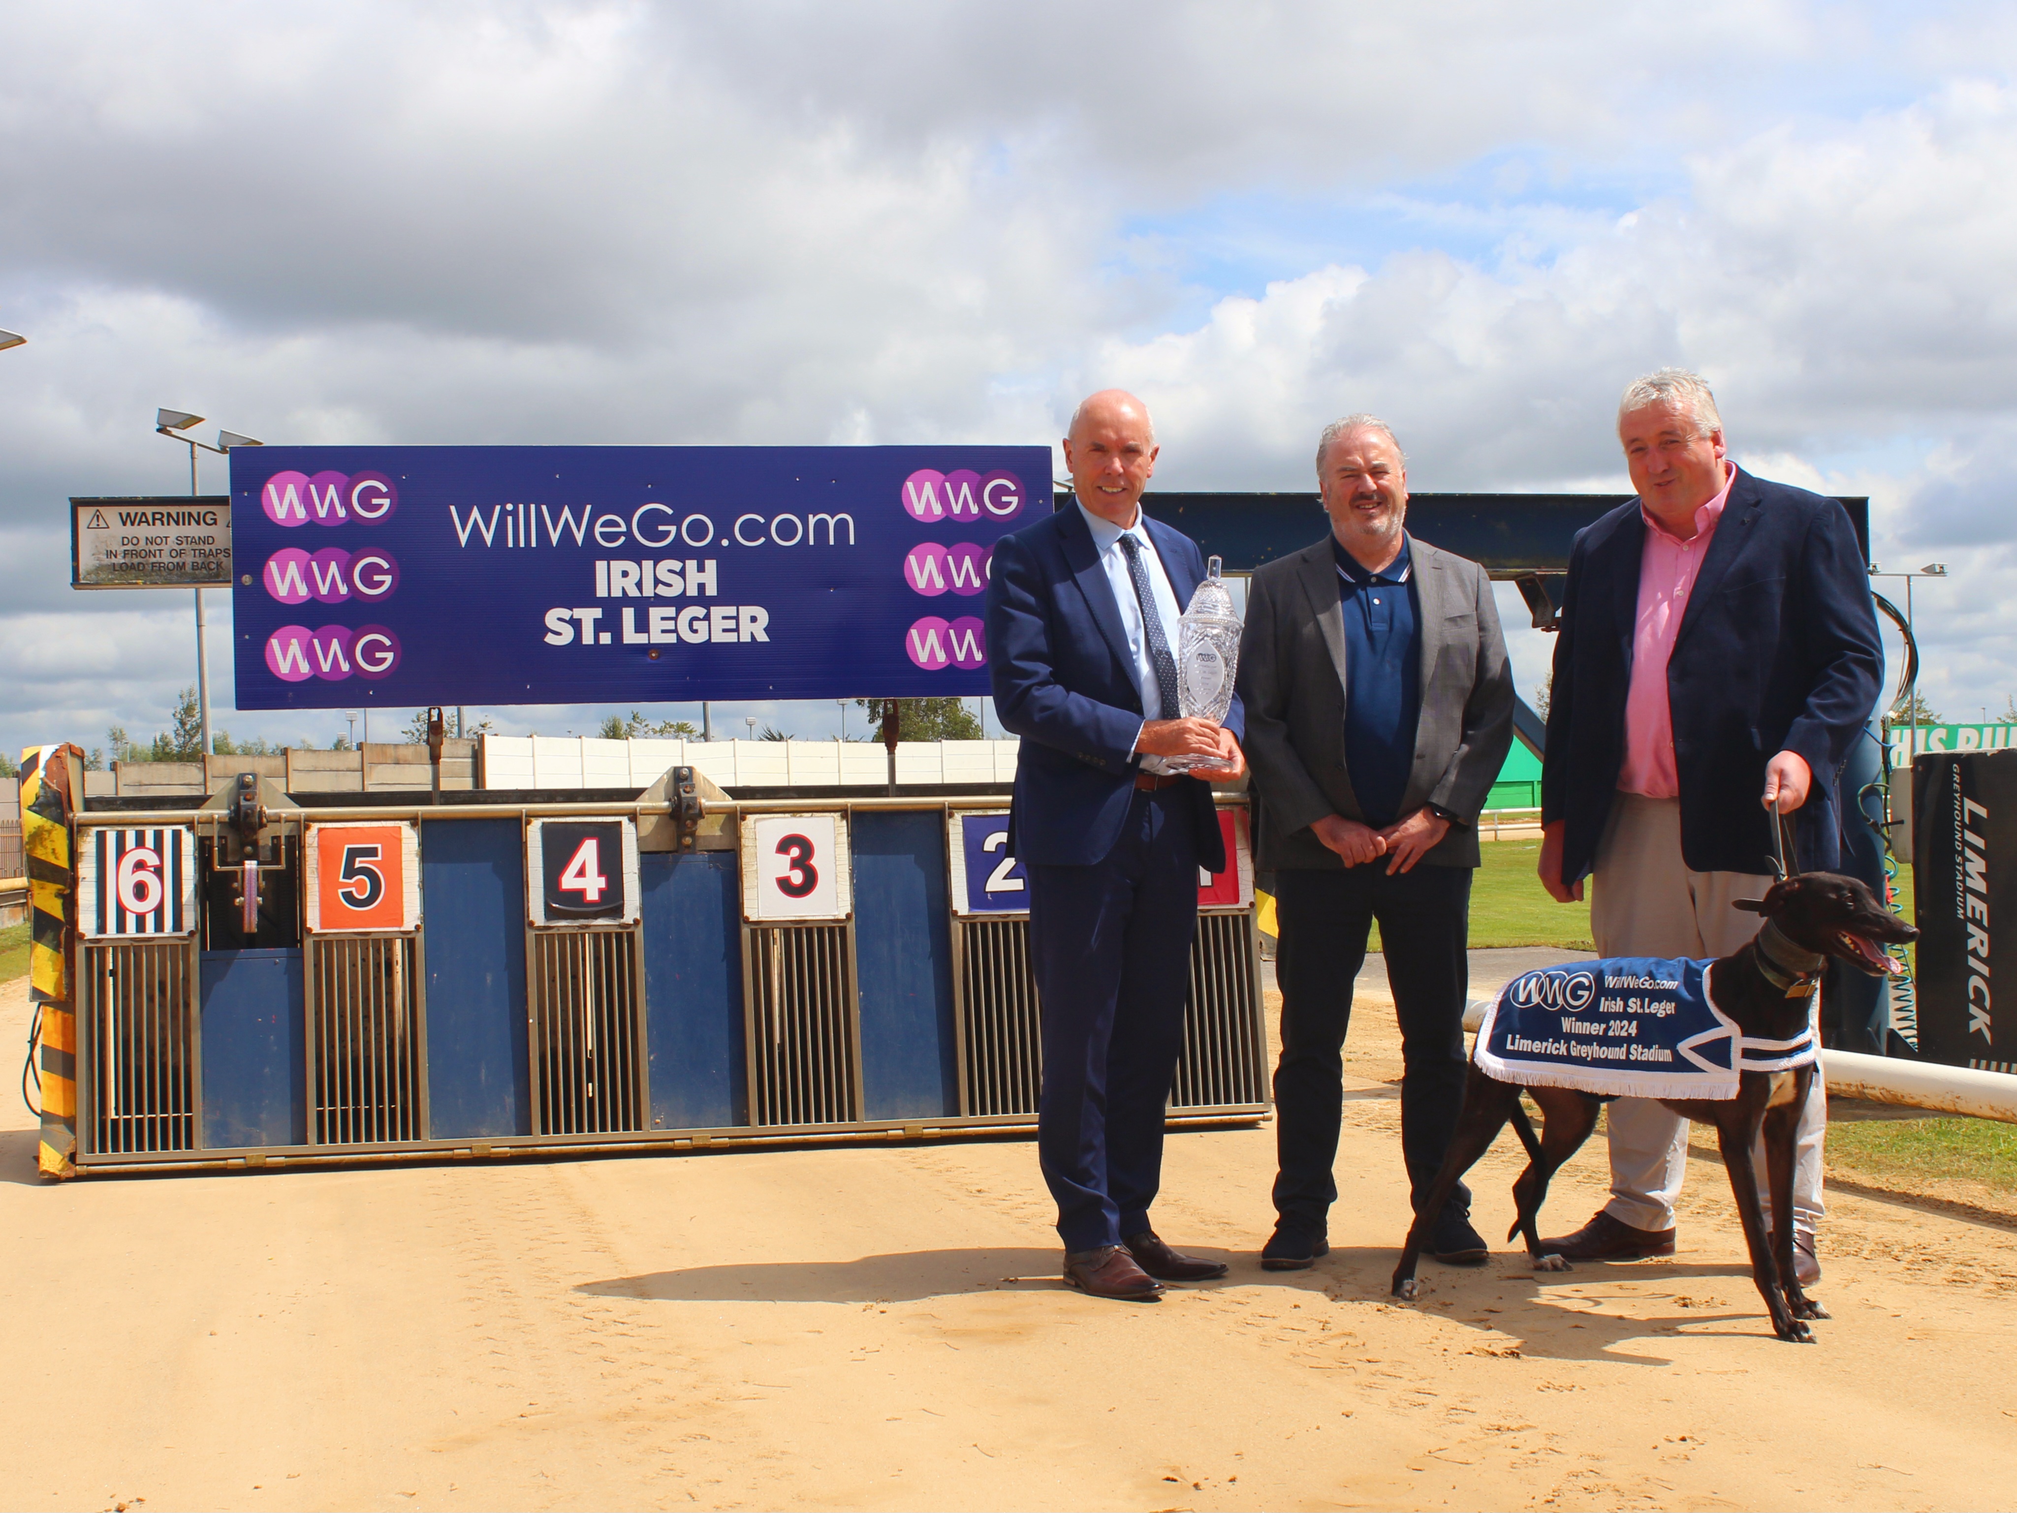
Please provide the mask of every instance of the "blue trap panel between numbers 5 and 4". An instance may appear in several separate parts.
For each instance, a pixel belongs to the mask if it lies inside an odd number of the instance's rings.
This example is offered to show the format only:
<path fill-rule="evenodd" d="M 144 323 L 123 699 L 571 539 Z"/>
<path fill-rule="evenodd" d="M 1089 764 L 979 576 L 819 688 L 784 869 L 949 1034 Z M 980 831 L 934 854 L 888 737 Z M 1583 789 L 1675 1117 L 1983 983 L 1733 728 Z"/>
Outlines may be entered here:
<path fill-rule="evenodd" d="M 524 839 L 516 819 L 420 827 L 428 1134 L 532 1134 L 524 1029 Z"/>

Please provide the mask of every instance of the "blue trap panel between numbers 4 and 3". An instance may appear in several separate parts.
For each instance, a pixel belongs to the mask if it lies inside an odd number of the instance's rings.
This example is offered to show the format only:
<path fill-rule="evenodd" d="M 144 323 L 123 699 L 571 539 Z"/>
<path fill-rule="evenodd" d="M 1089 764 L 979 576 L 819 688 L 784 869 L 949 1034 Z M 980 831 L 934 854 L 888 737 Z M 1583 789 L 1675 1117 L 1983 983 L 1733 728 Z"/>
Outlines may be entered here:
<path fill-rule="evenodd" d="M 651 1128 L 748 1124 L 734 851 L 637 857 Z"/>

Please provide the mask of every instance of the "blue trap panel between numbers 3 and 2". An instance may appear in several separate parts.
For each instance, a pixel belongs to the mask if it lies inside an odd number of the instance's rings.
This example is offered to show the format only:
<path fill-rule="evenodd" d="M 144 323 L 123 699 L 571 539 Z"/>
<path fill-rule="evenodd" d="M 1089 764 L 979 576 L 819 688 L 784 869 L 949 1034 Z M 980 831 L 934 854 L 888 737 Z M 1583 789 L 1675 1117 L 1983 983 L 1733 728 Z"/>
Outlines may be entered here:
<path fill-rule="evenodd" d="M 942 813 L 857 813 L 855 995 L 869 1120 L 960 1112 Z"/>

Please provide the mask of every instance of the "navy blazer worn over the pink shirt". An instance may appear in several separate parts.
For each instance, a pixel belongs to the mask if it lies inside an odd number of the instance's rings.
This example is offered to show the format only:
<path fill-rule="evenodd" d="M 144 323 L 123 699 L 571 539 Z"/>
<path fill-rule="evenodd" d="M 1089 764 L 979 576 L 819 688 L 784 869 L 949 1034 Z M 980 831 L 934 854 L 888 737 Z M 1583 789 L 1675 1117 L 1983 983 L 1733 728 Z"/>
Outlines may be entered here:
<path fill-rule="evenodd" d="M 1579 531 L 1555 644 L 1541 813 L 1563 819 L 1561 876 L 1595 865 L 1626 752 L 1626 688 L 1646 516 L 1628 500 Z M 1813 769 L 1797 811 L 1799 865 L 1842 853 L 1835 777 L 1884 678 L 1856 527 L 1831 498 L 1739 468 L 1666 666 L 1680 779 L 1680 853 L 1692 871 L 1767 874 L 1765 763 Z"/>

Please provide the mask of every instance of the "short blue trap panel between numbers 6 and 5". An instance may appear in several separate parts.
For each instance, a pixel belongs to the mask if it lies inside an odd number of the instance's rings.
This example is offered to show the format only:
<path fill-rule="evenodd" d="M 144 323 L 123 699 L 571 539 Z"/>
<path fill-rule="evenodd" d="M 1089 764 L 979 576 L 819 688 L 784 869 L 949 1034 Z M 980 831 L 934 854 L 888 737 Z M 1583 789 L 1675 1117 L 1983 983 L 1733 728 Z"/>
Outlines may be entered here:
<path fill-rule="evenodd" d="M 206 950 L 204 1148 L 309 1144 L 301 950 Z"/>

